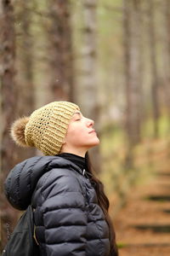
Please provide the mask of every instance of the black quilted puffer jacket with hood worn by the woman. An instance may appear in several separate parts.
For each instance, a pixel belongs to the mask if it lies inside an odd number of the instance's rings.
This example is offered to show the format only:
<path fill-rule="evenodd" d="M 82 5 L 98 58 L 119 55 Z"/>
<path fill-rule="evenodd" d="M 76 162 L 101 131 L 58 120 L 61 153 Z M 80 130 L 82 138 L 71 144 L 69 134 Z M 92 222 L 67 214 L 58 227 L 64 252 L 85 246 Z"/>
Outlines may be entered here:
<path fill-rule="evenodd" d="M 109 229 L 88 178 L 70 160 L 33 157 L 15 166 L 5 182 L 13 207 L 35 208 L 41 256 L 109 256 Z"/>

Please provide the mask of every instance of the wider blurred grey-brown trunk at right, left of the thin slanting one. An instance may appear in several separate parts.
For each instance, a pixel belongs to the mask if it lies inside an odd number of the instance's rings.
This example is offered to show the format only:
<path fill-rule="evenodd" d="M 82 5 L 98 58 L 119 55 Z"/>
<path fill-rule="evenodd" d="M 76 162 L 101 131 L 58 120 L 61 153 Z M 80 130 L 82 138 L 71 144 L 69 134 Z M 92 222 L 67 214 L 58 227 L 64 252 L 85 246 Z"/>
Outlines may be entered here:
<path fill-rule="evenodd" d="M 126 130 L 129 147 L 139 143 L 142 117 L 141 1 L 123 1 L 125 84 L 127 96 Z"/>

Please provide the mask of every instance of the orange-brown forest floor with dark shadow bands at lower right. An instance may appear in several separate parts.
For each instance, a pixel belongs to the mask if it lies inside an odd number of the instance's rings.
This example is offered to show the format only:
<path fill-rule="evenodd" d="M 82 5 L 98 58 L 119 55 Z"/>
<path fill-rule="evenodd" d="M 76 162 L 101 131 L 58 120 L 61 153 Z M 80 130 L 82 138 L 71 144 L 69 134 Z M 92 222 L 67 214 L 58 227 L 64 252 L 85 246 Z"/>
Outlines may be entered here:
<path fill-rule="evenodd" d="M 120 256 L 170 255 L 170 165 L 131 189 L 127 204 L 114 218 Z"/>

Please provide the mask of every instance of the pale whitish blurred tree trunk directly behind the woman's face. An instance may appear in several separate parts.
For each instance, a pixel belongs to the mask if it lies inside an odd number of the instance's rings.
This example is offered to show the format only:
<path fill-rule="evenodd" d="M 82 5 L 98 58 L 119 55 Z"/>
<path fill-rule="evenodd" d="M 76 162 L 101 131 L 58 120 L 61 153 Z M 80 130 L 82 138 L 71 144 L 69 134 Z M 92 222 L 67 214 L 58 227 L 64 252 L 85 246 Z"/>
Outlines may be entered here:
<path fill-rule="evenodd" d="M 99 100 L 97 68 L 97 1 L 82 0 L 82 42 L 79 54 L 81 61 L 77 74 L 77 102 L 82 108 L 82 113 L 95 120 L 95 129 L 99 135 Z M 96 172 L 100 172 L 99 147 L 91 149 L 90 157 Z"/>

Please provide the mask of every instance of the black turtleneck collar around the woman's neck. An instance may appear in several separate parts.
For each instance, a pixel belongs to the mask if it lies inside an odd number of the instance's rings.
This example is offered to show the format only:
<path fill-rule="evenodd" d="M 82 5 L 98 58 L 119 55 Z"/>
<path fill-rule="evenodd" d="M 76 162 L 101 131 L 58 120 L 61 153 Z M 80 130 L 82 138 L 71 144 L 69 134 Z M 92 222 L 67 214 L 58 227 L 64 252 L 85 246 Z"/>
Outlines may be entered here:
<path fill-rule="evenodd" d="M 71 153 L 61 153 L 58 154 L 58 156 L 61 156 L 66 160 L 71 160 L 71 162 L 77 165 L 81 170 L 85 169 L 85 158 L 80 155 Z"/>

